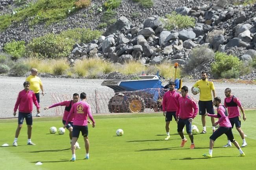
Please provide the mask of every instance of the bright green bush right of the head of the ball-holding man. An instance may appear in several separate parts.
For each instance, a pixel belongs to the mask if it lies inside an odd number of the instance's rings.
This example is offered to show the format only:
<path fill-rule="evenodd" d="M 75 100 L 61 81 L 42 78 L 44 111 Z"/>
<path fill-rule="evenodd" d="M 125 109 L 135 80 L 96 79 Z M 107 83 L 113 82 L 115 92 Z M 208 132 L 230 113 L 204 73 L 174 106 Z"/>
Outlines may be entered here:
<path fill-rule="evenodd" d="M 214 62 L 211 64 L 212 75 L 221 78 L 221 73 L 225 73 L 231 69 L 233 71 L 241 71 L 241 61 L 238 57 L 227 55 L 226 53 L 216 52 Z"/>

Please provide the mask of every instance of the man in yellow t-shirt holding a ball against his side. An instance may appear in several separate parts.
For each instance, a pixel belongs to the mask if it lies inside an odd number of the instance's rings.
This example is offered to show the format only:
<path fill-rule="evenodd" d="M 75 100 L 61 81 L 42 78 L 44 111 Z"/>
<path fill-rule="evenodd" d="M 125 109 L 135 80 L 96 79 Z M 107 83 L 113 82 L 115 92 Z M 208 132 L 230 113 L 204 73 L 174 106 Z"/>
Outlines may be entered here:
<path fill-rule="evenodd" d="M 207 79 L 207 73 L 205 71 L 202 71 L 201 73 L 201 80 L 198 80 L 193 87 L 191 88 L 191 91 L 193 95 L 196 95 L 196 93 L 193 91 L 194 87 L 199 86 L 200 88 L 200 96 L 199 96 L 199 115 L 201 115 L 202 124 L 203 124 L 203 131 L 201 133 L 206 133 L 206 119 L 205 119 L 205 113 L 214 114 L 214 108 L 212 104 L 212 94 L 213 97 L 216 97 L 214 84 L 212 81 L 208 81 Z M 214 124 L 214 117 L 211 117 L 212 124 Z M 215 126 L 212 126 L 212 131 L 215 131 Z"/>

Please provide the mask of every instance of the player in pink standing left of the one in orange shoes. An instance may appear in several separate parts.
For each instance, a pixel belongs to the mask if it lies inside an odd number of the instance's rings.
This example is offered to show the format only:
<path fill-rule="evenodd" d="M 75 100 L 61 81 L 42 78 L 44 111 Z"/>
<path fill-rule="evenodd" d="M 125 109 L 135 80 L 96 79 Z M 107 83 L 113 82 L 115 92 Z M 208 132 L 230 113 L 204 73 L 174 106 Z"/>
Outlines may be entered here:
<path fill-rule="evenodd" d="M 180 94 L 175 91 L 175 82 L 169 82 L 169 91 L 164 93 L 163 101 L 162 101 L 162 106 L 163 106 L 163 114 L 165 116 L 165 129 L 166 129 L 166 135 L 167 137 L 165 140 L 168 140 L 170 138 L 170 133 L 169 133 L 169 124 L 170 121 L 172 121 L 172 118 L 175 119 L 175 121 L 178 123 L 176 119 L 176 111 L 177 111 L 177 104 L 178 104 L 178 99 L 180 97 Z"/>

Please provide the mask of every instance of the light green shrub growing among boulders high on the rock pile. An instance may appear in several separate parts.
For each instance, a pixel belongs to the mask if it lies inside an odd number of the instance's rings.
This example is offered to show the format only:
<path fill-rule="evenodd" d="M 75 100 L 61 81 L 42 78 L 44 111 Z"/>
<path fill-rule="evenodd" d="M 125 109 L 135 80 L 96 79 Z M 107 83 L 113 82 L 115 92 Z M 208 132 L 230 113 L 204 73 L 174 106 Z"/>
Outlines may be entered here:
<path fill-rule="evenodd" d="M 171 14 L 167 14 L 166 18 L 167 19 L 161 19 L 161 21 L 164 23 L 164 28 L 168 30 L 195 27 L 194 18 L 177 14 L 175 11 Z"/>

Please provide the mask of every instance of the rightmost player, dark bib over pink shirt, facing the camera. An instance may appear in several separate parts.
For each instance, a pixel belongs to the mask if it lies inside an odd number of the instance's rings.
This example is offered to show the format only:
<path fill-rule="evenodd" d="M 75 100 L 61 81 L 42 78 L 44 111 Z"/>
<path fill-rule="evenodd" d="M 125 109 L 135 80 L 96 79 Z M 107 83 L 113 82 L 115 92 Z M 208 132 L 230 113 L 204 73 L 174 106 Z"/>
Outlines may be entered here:
<path fill-rule="evenodd" d="M 247 143 L 245 141 L 245 133 L 243 133 L 243 130 L 241 129 L 241 115 L 239 112 L 239 108 L 243 113 L 244 121 L 246 120 L 245 111 L 243 110 L 243 106 L 241 105 L 241 102 L 239 101 L 239 99 L 236 96 L 231 94 L 230 88 L 225 89 L 225 96 L 226 97 L 224 99 L 224 106 L 228 109 L 228 119 L 232 125 L 232 128 L 234 127 L 234 124 L 236 125 L 236 130 L 238 130 L 241 138 L 243 139 L 243 143 L 241 147 L 245 147 L 247 146 Z M 223 147 L 229 147 L 229 146 L 231 146 L 231 142 L 228 139 L 228 143 Z"/>

